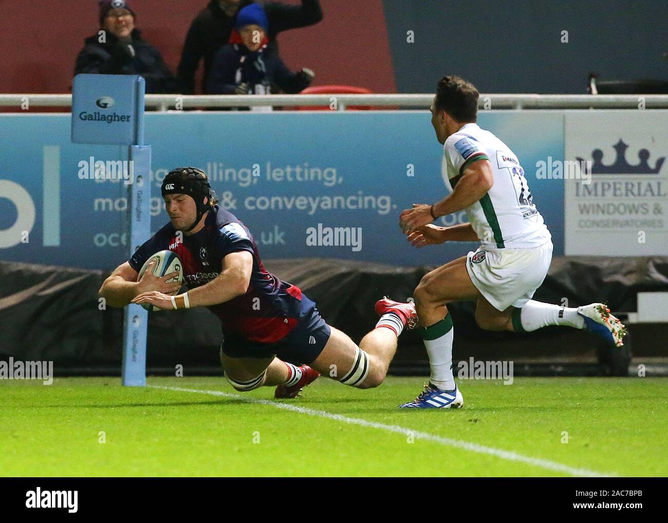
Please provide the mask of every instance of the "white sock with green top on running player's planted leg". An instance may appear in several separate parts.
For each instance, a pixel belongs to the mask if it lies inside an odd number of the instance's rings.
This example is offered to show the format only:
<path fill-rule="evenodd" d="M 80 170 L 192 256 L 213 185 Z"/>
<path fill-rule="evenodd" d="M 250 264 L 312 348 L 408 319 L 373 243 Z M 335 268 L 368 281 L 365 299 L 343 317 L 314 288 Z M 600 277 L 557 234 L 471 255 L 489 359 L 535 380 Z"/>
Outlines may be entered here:
<path fill-rule="evenodd" d="M 452 339 L 454 328 L 450 313 L 426 329 L 418 329 L 424 346 L 429 355 L 429 381 L 441 390 L 451 391 L 455 388 L 455 379 L 452 375 Z"/>

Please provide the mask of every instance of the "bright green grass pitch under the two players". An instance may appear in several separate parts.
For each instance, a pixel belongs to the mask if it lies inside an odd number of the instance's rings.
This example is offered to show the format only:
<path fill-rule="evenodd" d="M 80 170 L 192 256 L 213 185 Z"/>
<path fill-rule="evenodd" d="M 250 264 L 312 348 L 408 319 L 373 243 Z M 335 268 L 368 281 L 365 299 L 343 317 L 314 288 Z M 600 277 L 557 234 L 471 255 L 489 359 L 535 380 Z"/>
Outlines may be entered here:
<path fill-rule="evenodd" d="M 286 409 L 221 377 L 3 380 L 0 476 L 668 476 L 666 379 L 466 380 L 464 409 L 397 409 L 423 382 L 321 378 Z"/>

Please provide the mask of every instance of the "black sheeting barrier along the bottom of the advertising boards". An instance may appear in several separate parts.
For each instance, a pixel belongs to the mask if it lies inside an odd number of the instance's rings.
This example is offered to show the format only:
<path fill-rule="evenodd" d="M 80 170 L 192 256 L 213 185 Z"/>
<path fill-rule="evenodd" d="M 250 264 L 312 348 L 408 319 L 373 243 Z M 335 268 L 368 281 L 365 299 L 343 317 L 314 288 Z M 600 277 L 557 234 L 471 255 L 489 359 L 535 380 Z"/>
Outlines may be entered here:
<path fill-rule="evenodd" d="M 322 258 L 268 260 L 267 270 L 301 287 L 325 321 L 356 342 L 377 321 L 373 305 L 387 295 L 408 299 L 433 267 L 389 267 Z M 122 309 L 102 307 L 98 289 L 108 273 L 0 262 L 0 359 L 49 360 L 55 375 L 118 374 Z M 641 291 L 668 291 L 668 258 L 560 256 L 534 299 L 575 307 L 601 301 L 614 312 L 636 310 Z M 514 360 L 516 375 L 625 375 L 625 351 L 611 351 L 592 335 L 566 327 L 533 333 L 482 331 L 474 303 L 448 305 L 455 328 L 454 357 Z M 668 312 L 667 312 L 668 315 Z M 621 314 L 622 319 L 625 318 Z M 629 326 L 634 357 L 668 357 L 668 323 Z M 206 309 L 150 313 L 149 373 L 220 373 L 220 323 Z M 391 371 L 423 374 L 427 357 L 416 331 L 401 335 Z"/>

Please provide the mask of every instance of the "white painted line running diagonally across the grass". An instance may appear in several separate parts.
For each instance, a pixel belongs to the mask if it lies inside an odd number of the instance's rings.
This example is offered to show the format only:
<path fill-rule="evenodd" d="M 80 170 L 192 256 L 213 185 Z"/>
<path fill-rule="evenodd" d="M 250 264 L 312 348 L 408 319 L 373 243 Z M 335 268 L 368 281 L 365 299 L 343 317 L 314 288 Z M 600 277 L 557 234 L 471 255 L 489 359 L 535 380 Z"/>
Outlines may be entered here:
<path fill-rule="evenodd" d="M 517 454 L 516 452 L 495 449 L 494 447 L 478 445 L 477 443 L 464 442 L 462 440 L 453 440 L 452 438 L 444 438 L 439 435 L 434 435 L 419 430 L 408 429 L 406 427 L 399 427 L 399 425 L 386 425 L 385 423 L 377 423 L 377 421 L 368 421 L 367 419 L 360 419 L 359 417 L 347 417 L 341 414 L 333 414 L 331 412 L 327 412 L 324 410 L 315 410 L 315 409 L 307 409 L 306 407 L 298 407 L 297 405 L 292 405 L 291 403 L 279 403 L 278 401 L 270 401 L 269 399 L 247 397 L 239 394 L 230 394 L 228 392 L 222 392 L 222 391 L 183 389 L 182 387 L 163 387 L 161 385 L 146 385 L 146 386 L 152 387 L 154 389 L 165 389 L 178 392 L 195 392 L 199 394 L 208 394 L 211 396 L 233 397 L 234 399 L 241 399 L 242 401 L 246 401 L 247 403 L 260 403 L 261 405 L 271 405 L 272 407 L 276 407 L 277 409 L 299 412 L 302 414 L 308 414 L 309 416 L 335 419 L 336 421 L 343 421 L 343 423 L 349 423 L 350 425 L 360 425 L 361 427 L 383 429 L 389 432 L 396 432 L 407 436 L 412 435 L 413 438 L 415 439 L 427 440 L 430 442 L 436 442 L 450 447 L 470 450 L 471 452 L 477 452 L 478 454 L 488 454 L 490 456 L 496 456 L 496 458 L 501 458 L 502 460 L 510 460 L 512 462 L 526 463 L 528 465 L 544 468 L 546 470 L 553 470 L 554 472 L 564 472 L 565 474 L 570 474 L 570 476 L 584 476 L 587 478 L 607 478 L 610 476 L 615 476 L 615 474 L 603 474 L 601 472 L 596 472 L 595 470 L 588 470 L 585 468 L 573 468 L 569 467 L 568 465 L 551 462 L 550 460 L 544 460 L 542 458 L 531 458 L 530 456 L 523 456 L 522 454 Z"/>

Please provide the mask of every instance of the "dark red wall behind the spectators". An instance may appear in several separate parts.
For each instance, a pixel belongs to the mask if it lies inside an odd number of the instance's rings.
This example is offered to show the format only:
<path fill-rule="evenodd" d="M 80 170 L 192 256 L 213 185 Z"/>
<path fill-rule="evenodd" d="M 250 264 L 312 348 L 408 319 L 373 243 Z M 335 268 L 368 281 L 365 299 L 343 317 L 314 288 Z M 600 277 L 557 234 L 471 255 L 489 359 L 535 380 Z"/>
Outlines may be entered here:
<path fill-rule="evenodd" d="M 207 0 L 129 1 L 136 26 L 176 72 L 186 31 Z M 347 83 L 395 92 L 381 0 L 321 0 L 321 5 L 319 24 L 279 35 L 287 65 L 311 67 L 317 75 L 313 85 Z M 0 0 L 0 10 L 0 92 L 69 92 L 83 39 L 99 29 L 97 1 Z"/>

